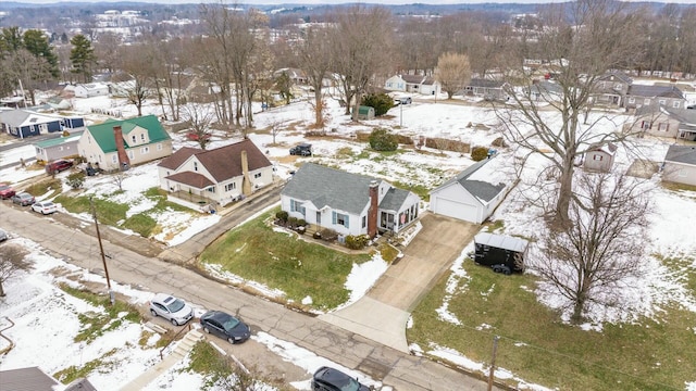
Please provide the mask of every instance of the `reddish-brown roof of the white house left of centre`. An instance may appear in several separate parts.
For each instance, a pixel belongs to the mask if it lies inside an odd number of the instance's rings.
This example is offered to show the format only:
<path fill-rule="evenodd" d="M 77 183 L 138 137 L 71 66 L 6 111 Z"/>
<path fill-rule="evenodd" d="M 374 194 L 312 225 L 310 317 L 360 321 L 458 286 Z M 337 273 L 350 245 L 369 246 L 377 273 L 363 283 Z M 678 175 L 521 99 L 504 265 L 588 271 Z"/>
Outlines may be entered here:
<path fill-rule="evenodd" d="M 202 164 L 206 169 L 208 169 L 215 181 L 221 182 L 231 178 L 238 177 L 243 174 L 240 157 L 241 151 L 247 151 L 247 163 L 249 163 L 249 171 L 254 171 L 273 165 L 271 161 L 269 161 L 269 159 L 259 150 L 259 148 L 257 148 L 257 146 L 251 140 L 246 139 L 233 144 L 206 151 L 197 148 L 182 148 L 181 150 L 174 152 L 171 156 L 163 159 L 162 162 L 158 164 L 158 166 L 170 169 L 177 169 L 190 156 L 196 156 L 200 164 Z M 170 178 L 175 179 L 174 176 L 179 174 L 175 174 Z M 210 185 L 212 185 L 212 182 Z"/>

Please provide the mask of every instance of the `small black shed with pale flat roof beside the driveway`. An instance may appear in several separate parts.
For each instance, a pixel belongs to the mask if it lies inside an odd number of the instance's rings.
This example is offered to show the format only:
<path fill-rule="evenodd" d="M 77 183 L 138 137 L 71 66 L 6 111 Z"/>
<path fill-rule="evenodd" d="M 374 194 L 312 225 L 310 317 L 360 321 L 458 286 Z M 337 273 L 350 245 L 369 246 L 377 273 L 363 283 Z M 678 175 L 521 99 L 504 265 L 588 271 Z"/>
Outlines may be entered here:
<path fill-rule="evenodd" d="M 481 232 L 474 237 L 474 262 L 496 273 L 522 273 L 527 247 L 524 239 Z"/>

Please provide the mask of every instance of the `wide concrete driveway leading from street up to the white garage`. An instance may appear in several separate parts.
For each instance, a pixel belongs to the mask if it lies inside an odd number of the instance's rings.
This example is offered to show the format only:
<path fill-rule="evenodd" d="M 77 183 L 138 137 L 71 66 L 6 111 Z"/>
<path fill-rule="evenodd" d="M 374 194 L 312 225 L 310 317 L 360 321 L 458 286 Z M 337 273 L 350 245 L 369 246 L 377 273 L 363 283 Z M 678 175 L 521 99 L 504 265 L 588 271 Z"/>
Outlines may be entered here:
<path fill-rule="evenodd" d="M 368 294 L 356 303 L 320 316 L 320 319 L 362 337 L 408 352 L 406 324 L 411 311 L 447 272 L 480 225 L 425 213 L 423 229 L 402 250 Z"/>

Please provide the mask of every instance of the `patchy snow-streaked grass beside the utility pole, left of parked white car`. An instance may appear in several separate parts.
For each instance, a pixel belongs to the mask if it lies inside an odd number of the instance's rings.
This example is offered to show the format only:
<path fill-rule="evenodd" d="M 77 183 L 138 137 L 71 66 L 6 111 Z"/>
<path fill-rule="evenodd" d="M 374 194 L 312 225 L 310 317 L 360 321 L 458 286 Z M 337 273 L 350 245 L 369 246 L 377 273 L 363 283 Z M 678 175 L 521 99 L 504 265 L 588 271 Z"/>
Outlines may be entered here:
<path fill-rule="evenodd" d="M 77 314 L 77 318 L 83 327 L 77 336 L 75 336 L 75 342 L 92 342 L 103 336 L 104 332 L 119 328 L 124 320 L 140 323 L 140 313 L 130 304 L 116 300 L 114 305 L 111 305 L 109 297 L 107 295 L 72 288 L 65 283 L 59 285 L 59 288 L 75 298 L 103 307 L 103 313 L 87 312 Z M 122 315 L 119 316 L 120 314 Z"/>

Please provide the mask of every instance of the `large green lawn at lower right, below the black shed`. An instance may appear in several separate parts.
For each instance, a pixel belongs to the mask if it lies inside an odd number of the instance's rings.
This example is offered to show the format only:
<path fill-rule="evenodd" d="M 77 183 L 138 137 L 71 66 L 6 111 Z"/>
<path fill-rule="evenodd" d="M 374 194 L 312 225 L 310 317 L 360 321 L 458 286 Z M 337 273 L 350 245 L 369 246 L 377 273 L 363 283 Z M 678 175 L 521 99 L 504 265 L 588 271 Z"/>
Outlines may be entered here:
<path fill-rule="evenodd" d="M 672 307 L 659 321 L 583 331 L 536 301 L 533 276 L 504 276 L 471 262 L 464 269 L 471 279 L 448 306 L 462 325 L 435 312 L 447 295 L 445 276 L 413 312 L 409 343 L 427 351 L 433 342 L 488 363 L 493 338 L 500 336 L 496 365 L 561 390 L 681 390 L 693 381 L 696 350 L 686 346 L 693 345 L 696 315 L 688 311 Z"/>

